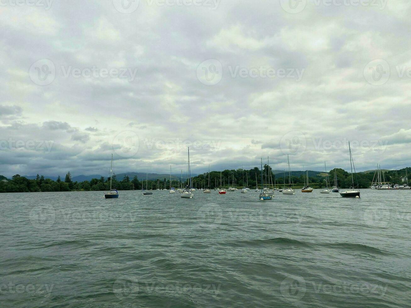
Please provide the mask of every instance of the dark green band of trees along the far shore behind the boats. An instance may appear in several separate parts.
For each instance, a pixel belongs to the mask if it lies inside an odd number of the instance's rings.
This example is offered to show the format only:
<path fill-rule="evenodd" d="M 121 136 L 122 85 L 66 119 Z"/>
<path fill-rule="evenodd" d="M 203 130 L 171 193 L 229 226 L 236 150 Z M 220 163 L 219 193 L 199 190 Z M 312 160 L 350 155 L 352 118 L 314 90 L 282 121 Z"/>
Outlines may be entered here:
<path fill-rule="evenodd" d="M 271 169 L 271 168 L 270 168 Z M 264 165 L 263 170 L 263 182 L 267 186 L 270 169 L 267 165 Z M 351 186 L 351 173 L 343 169 L 332 169 L 329 172 L 329 180 L 331 186 L 334 185 L 334 174 L 337 172 L 338 186 L 340 188 L 349 188 Z M 293 172 L 295 173 L 295 172 Z M 300 172 L 300 176 L 291 175 L 291 184 L 295 188 L 300 188 L 307 182 L 305 179 L 305 173 Z M 309 172 L 312 174 L 312 172 Z M 406 171 L 405 168 L 401 170 L 390 170 L 384 173 L 385 181 L 393 184 L 402 184 L 402 178 L 405 178 Z M 243 182 L 244 176 L 244 182 Z M 220 185 L 224 187 L 236 186 L 237 188 L 242 188 L 246 186 L 246 178 L 248 178 L 248 186 L 250 188 L 255 188 L 256 186 L 261 188 L 261 170 L 257 167 L 251 170 L 224 170 L 221 172 L 222 184 L 220 184 L 220 172 L 212 171 L 210 172 L 210 188 L 219 188 Z M 256 183 L 257 178 L 257 183 Z M 371 182 L 374 178 L 374 172 L 359 172 L 354 174 L 354 183 L 356 185 L 357 181 L 360 188 L 369 188 Z M 233 180 L 234 179 L 234 180 Z M 270 183 L 275 182 L 276 187 L 284 186 L 284 175 L 277 174 L 271 175 Z M 323 188 L 326 186 L 325 173 L 318 172 L 316 176 L 309 176 L 309 186 L 313 188 Z M 286 173 L 285 176 L 286 186 L 289 185 L 289 177 Z M 183 184 L 176 180 L 172 180 L 172 187 L 186 186 L 188 180 L 185 179 Z M 198 175 L 192 178 L 193 187 L 195 188 L 206 188 L 208 187 L 208 172 Z M 230 185 L 229 185 L 230 183 Z M 235 183 L 235 184 L 234 184 Z M 258 185 L 256 185 L 258 184 Z M 168 179 L 156 179 L 139 181 L 135 176 L 130 179 L 127 175 L 123 179 L 118 180 L 115 175 L 112 179 L 112 188 L 118 190 L 141 190 L 142 185 L 144 188 L 157 189 L 157 188 L 169 188 L 170 182 Z M 0 175 L 0 193 L 24 193 L 24 192 L 49 192 L 49 191 L 108 191 L 110 189 L 110 178 L 101 177 L 99 179 L 92 179 L 91 181 L 83 182 L 73 182 L 70 172 L 67 173 L 65 179 L 60 179 L 60 176 L 56 181 L 44 178 L 44 176 L 37 175 L 35 179 L 26 179 L 20 175 L 14 175 L 12 179 L 7 179 Z"/>

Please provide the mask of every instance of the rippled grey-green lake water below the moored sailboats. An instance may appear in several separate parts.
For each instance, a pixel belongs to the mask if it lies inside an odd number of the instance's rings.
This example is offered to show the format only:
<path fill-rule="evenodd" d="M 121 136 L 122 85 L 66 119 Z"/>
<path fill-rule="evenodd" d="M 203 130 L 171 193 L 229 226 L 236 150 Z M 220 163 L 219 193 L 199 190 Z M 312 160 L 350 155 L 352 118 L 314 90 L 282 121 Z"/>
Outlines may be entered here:
<path fill-rule="evenodd" d="M 1 194 L 1 307 L 410 307 L 411 191 Z"/>

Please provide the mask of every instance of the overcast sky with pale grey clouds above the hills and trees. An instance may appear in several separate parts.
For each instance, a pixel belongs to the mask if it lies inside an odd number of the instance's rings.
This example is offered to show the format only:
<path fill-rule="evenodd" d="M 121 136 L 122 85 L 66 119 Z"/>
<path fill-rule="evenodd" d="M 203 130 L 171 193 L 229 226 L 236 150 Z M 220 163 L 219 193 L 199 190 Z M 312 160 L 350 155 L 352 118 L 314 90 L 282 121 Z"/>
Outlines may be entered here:
<path fill-rule="evenodd" d="M 409 0 L 1 0 L 0 174 L 404 168 Z"/>

